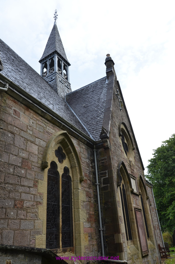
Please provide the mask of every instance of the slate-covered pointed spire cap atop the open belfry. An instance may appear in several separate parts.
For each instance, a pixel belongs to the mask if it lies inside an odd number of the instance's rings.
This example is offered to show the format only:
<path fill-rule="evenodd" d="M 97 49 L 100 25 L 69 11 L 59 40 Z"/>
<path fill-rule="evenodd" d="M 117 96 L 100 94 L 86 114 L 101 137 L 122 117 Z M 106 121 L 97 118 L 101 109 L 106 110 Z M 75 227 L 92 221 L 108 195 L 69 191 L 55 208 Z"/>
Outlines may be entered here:
<path fill-rule="evenodd" d="M 61 41 L 61 37 L 60 37 L 59 32 L 58 32 L 56 22 L 53 25 L 49 39 L 48 39 L 47 44 L 45 46 L 45 50 L 43 52 L 43 56 L 41 57 L 39 62 L 55 51 L 57 51 L 66 60 L 66 62 L 70 66 L 70 63 L 68 62 L 68 59 L 66 57 L 65 49 L 63 47 L 63 43 Z"/>

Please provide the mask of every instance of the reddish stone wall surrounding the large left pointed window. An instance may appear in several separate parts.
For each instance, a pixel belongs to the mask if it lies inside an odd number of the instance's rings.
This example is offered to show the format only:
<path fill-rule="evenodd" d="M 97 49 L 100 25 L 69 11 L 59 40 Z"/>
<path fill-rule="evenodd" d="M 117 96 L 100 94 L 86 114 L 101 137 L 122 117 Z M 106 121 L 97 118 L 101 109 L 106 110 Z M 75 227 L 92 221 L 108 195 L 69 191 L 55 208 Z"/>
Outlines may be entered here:
<path fill-rule="evenodd" d="M 61 129 L 6 93 L 0 97 L 0 243 L 45 247 L 46 215 L 40 214 L 45 193 L 39 191 L 38 184 L 44 180 L 41 163 L 45 146 Z M 73 136 L 71 139 L 84 176 L 79 207 L 85 210 L 85 216 L 79 223 L 79 236 L 86 239 L 76 253 L 97 256 L 100 248 L 93 149 Z"/>

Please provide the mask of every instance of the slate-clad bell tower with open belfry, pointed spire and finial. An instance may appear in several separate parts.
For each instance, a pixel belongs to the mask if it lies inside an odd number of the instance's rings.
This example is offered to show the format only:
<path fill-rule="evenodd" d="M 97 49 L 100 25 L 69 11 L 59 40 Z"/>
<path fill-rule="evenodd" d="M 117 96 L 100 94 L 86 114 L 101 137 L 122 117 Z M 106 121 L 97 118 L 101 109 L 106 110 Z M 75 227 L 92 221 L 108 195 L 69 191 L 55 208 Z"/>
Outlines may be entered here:
<path fill-rule="evenodd" d="M 41 64 L 40 75 L 50 84 L 55 92 L 65 99 L 66 93 L 72 92 L 69 81 L 69 66 L 66 53 L 57 28 L 57 10 L 54 13 L 54 25 L 47 41 Z"/>

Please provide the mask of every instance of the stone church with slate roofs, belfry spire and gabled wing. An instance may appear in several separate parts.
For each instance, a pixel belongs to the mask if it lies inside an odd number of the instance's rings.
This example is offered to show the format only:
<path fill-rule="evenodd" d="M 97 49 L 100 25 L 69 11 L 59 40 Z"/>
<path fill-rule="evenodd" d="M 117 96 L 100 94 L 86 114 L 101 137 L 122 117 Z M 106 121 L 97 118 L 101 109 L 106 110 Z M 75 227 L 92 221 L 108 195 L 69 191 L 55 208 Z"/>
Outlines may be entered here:
<path fill-rule="evenodd" d="M 40 74 L 1 39 L 0 53 L 0 263 L 160 263 L 110 54 L 103 78 L 72 91 L 56 13 Z"/>

